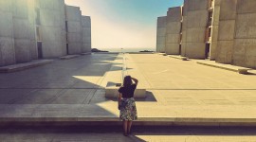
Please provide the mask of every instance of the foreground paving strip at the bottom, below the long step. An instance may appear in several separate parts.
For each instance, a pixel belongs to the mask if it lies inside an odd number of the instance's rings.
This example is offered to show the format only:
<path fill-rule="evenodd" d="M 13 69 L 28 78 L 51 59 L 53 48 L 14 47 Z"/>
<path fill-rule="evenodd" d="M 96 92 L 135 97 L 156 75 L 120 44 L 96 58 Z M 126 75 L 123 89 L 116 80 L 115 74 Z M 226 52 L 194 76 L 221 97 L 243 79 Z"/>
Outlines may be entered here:
<path fill-rule="evenodd" d="M 1 142 L 256 142 L 254 128 L 135 128 L 123 136 L 120 128 L 8 128 Z"/>

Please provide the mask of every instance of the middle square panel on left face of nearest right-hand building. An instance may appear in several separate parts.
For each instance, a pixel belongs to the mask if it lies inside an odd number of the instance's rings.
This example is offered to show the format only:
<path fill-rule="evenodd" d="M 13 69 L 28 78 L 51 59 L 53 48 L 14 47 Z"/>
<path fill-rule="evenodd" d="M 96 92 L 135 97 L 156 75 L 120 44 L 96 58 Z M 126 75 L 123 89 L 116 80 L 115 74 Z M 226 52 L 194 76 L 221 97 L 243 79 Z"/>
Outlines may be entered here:
<path fill-rule="evenodd" d="M 218 31 L 218 40 L 227 41 L 233 40 L 235 33 L 235 21 L 226 20 L 220 21 L 219 31 Z"/>

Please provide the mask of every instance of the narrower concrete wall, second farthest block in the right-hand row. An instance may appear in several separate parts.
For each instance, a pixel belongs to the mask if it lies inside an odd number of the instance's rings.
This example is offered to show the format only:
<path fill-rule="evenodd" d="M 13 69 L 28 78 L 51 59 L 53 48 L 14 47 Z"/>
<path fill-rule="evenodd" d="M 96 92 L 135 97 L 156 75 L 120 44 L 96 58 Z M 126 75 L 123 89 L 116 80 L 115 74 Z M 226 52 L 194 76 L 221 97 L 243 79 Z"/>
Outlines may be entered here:
<path fill-rule="evenodd" d="M 170 8 L 166 17 L 166 54 L 179 55 L 180 32 L 181 32 L 181 8 Z"/>

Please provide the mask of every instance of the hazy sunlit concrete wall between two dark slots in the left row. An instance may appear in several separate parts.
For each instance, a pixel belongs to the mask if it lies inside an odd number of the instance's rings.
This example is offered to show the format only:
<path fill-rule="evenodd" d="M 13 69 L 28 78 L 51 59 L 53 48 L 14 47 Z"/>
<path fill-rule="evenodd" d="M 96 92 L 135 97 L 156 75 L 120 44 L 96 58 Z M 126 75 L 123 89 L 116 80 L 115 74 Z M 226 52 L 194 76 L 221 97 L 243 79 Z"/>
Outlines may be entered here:
<path fill-rule="evenodd" d="M 66 54 L 64 39 L 64 0 L 36 0 L 40 11 L 40 35 L 43 58 L 56 58 Z"/>

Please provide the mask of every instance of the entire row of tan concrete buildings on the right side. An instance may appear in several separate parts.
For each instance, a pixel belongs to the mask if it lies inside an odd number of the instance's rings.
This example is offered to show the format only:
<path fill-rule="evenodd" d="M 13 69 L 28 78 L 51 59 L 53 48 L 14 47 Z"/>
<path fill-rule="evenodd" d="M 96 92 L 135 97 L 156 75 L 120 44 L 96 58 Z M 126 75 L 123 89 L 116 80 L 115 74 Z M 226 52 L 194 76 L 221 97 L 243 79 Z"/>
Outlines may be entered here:
<path fill-rule="evenodd" d="M 156 51 L 256 68 L 256 1 L 185 0 L 158 17 Z"/>

